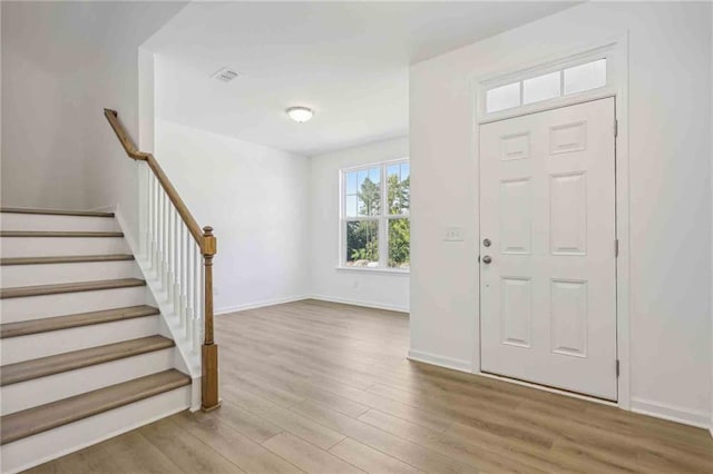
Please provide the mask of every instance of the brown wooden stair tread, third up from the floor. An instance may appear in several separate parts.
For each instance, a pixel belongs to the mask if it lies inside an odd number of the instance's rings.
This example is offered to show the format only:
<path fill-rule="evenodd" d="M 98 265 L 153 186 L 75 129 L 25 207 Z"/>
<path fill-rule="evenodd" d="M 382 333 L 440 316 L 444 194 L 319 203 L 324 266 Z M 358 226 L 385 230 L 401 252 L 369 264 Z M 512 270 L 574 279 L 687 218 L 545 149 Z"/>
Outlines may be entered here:
<path fill-rule="evenodd" d="M 141 305 L 22 320 L 18 323 L 6 323 L 0 324 L 0 339 L 27 336 L 38 333 L 48 333 L 50 330 L 69 329 L 72 327 L 111 323 L 116 320 L 133 319 L 136 317 L 153 316 L 157 315 L 158 313 L 158 309 L 153 306 Z"/>

